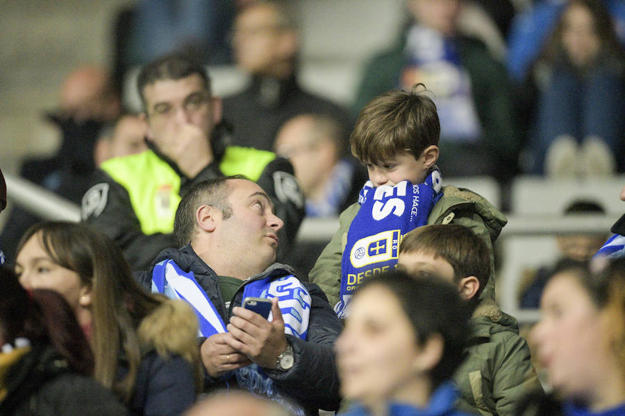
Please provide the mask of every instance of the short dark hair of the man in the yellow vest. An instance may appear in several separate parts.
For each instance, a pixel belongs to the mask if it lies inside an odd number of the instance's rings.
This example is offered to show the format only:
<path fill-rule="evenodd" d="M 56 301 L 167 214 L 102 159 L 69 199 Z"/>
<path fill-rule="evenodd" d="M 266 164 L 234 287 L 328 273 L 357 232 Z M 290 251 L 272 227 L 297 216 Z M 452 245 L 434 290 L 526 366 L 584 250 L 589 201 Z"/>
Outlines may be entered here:
<path fill-rule="evenodd" d="M 202 79 L 206 92 L 210 94 L 210 77 L 204 65 L 194 58 L 182 53 L 164 55 L 146 64 L 139 73 L 137 88 L 143 107 L 146 107 L 143 90 L 146 85 L 160 80 L 180 80 L 196 74 Z"/>

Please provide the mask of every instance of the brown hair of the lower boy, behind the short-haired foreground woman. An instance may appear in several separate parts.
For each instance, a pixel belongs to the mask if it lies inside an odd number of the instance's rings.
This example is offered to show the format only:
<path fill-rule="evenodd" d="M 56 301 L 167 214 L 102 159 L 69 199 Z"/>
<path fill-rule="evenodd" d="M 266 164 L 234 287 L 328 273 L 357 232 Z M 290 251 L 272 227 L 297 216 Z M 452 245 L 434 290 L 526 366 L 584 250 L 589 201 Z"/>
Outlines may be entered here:
<path fill-rule="evenodd" d="M 490 276 L 490 252 L 487 245 L 471 229 L 462 225 L 424 225 L 403 236 L 399 254 L 425 252 L 442 258 L 453 268 L 454 281 L 469 276 L 477 277 L 480 288 L 478 299 Z"/>

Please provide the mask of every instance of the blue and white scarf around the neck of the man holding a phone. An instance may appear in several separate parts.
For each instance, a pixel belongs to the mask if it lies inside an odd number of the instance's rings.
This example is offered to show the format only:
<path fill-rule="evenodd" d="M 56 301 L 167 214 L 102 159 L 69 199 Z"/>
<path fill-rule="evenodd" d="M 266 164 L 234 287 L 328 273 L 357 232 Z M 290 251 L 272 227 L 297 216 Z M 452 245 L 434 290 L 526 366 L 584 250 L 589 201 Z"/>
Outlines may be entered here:
<path fill-rule="evenodd" d="M 152 293 L 162 293 L 171 299 L 188 302 L 199 320 L 199 335 L 206 338 L 215 333 L 226 332 L 226 324 L 215 309 L 206 291 L 197 283 L 193 272 L 185 272 L 174 260 L 165 259 L 157 263 L 152 271 Z M 310 293 L 294 275 L 276 278 L 272 273 L 263 279 L 252 280 L 244 286 L 245 297 L 278 297 L 278 306 L 284 320 L 284 332 L 306 340 L 310 307 L 313 304 Z M 272 315 L 269 314 L 269 321 Z M 291 406 L 274 386 L 274 381 L 256 364 L 235 371 L 241 388 L 271 397 L 284 406 Z M 301 408 L 291 408 L 295 415 L 303 415 Z"/>

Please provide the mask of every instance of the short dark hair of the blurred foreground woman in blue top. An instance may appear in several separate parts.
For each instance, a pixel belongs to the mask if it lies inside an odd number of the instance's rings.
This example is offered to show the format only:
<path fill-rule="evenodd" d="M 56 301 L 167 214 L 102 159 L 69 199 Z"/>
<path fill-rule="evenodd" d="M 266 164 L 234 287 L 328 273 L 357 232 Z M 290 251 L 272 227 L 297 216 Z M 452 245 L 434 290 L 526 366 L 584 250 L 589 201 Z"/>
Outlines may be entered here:
<path fill-rule="evenodd" d="M 355 296 L 367 287 L 381 286 L 390 291 L 412 323 L 417 343 L 424 345 L 438 334 L 443 340 L 442 358 L 430 372 L 433 387 L 451 379 L 462 361 L 469 333 L 469 309 L 458 289 L 439 277 L 412 277 L 393 270 L 365 281 Z"/>

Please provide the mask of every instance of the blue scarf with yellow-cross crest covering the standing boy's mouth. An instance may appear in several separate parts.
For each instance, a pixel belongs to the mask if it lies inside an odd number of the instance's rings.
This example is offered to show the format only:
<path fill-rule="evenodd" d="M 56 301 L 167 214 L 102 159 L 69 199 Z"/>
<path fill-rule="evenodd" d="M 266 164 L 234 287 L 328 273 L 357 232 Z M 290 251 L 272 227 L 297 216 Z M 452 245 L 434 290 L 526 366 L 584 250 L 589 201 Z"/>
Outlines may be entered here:
<path fill-rule="evenodd" d="M 340 301 L 334 307 L 339 318 L 347 318 L 347 304 L 363 279 L 394 268 L 401 237 L 428 223 L 432 207 L 442 196 L 441 186 L 437 168 L 422 184 L 405 180 L 394 187 L 374 188 L 372 182 L 365 183 L 343 250 Z"/>

